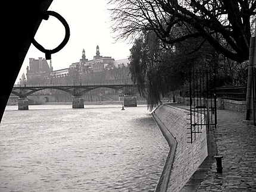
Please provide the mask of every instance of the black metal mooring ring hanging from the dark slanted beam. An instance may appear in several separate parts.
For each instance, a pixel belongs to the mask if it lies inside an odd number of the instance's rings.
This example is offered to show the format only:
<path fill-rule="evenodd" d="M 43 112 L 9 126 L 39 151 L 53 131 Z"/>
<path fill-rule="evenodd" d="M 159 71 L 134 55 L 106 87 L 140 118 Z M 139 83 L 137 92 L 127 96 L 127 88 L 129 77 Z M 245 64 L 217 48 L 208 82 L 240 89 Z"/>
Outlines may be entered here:
<path fill-rule="evenodd" d="M 43 48 L 42 45 L 40 45 L 36 40 L 35 40 L 35 37 L 32 36 L 31 37 L 31 41 L 33 43 L 33 45 L 39 49 L 40 51 L 42 51 L 43 53 L 45 53 L 45 59 L 51 59 L 51 54 L 53 53 L 57 53 L 58 51 L 60 51 L 62 48 L 64 48 L 64 46 L 67 44 L 68 42 L 68 39 L 70 37 L 70 29 L 69 29 L 69 26 L 68 26 L 68 23 L 67 21 L 65 21 L 65 19 L 60 15 L 58 14 L 57 12 L 54 12 L 54 11 L 43 11 L 41 14 L 40 14 L 40 18 L 43 18 L 43 20 L 48 20 L 49 18 L 49 15 L 52 15 L 54 17 L 56 17 L 59 21 L 61 21 L 61 23 L 63 24 L 63 26 L 65 27 L 65 37 L 63 39 L 63 42 L 60 43 L 60 45 L 57 46 L 57 48 L 55 49 L 45 49 Z"/>

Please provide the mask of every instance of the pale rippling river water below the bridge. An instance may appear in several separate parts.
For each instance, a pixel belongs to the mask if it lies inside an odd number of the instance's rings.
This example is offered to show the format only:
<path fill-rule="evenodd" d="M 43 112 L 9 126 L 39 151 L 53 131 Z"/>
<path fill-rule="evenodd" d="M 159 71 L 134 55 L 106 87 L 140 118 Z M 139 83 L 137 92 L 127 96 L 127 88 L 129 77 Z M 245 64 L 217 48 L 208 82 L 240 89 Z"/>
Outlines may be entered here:
<path fill-rule="evenodd" d="M 168 144 L 145 105 L 7 106 L 0 191 L 154 191 Z"/>

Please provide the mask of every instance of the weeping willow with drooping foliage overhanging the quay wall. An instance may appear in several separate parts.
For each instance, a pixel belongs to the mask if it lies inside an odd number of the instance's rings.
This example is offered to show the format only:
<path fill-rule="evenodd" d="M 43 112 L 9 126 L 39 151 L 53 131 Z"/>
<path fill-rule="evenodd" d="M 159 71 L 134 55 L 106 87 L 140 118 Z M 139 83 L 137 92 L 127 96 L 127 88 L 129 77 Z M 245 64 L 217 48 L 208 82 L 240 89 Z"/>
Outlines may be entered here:
<path fill-rule="evenodd" d="M 135 40 L 130 49 L 130 73 L 150 110 L 161 103 L 161 97 L 188 82 L 192 67 L 202 67 L 212 58 L 209 45 L 195 51 L 198 43 L 199 40 L 193 39 L 169 45 L 153 32 L 144 32 Z"/>

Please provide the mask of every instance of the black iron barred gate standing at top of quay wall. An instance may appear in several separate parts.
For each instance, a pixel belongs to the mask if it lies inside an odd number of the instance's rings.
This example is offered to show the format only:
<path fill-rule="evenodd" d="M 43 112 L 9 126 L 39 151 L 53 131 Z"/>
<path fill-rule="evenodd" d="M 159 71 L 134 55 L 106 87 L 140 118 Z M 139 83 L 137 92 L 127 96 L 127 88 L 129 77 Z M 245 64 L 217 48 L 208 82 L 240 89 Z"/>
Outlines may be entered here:
<path fill-rule="evenodd" d="M 217 104 L 215 75 L 207 70 L 189 73 L 190 127 L 189 143 L 193 143 L 203 128 L 216 128 Z"/>

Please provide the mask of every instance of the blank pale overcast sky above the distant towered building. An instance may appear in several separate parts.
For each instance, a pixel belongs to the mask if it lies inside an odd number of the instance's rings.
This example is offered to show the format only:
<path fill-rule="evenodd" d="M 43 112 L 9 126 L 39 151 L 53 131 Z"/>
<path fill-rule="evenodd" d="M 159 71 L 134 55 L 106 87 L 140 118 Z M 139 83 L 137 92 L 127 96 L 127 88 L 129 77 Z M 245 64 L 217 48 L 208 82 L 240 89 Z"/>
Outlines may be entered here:
<path fill-rule="evenodd" d="M 115 60 L 128 58 L 129 42 L 115 42 L 111 31 L 110 12 L 107 10 L 106 0 L 54 0 L 49 11 L 58 12 L 65 18 L 70 27 L 70 39 L 61 51 L 52 54 L 52 67 L 54 70 L 68 68 L 70 64 L 79 62 L 82 50 L 85 49 L 86 58 L 93 58 L 96 45 L 102 56 L 112 56 Z M 65 36 L 64 26 L 57 18 L 50 16 L 40 24 L 35 39 L 45 49 L 54 49 L 63 41 Z M 29 58 L 45 58 L 45 53 L 40 52 L 31 45 L 24 59 L 20 74 L 26 74 Z M 49 61 L 48 61 L 49 64 Z"/>

